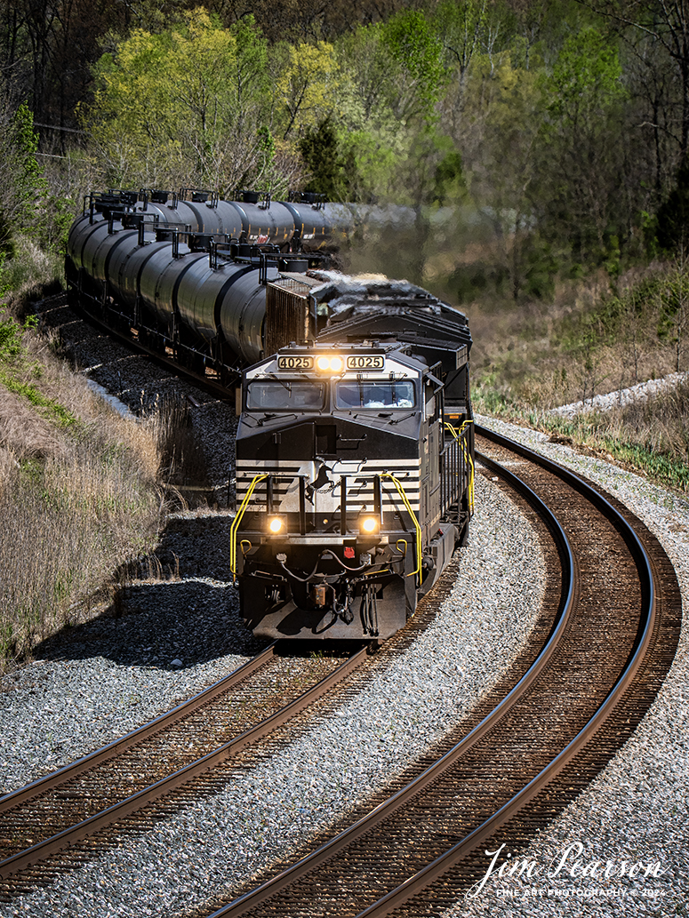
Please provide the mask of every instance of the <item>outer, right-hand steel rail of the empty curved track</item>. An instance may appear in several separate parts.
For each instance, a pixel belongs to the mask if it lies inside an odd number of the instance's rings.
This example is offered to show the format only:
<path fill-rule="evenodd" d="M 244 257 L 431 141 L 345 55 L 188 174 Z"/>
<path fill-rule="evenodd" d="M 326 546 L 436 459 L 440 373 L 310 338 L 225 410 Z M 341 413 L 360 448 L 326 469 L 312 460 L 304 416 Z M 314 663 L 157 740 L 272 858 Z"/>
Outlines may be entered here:
<path fill-rule="evenodd" d="M 648 653 L 649 644 L 651 642 L 656 616 L 656 596 L 652 566 L 646 549 L 638 539 L 636 532 L 634 532 L 624 517 L 603 497 L 603 495 L 568 469 L 564 469 L 561 465 L 557 465 L 551 460 L 527 449 L 525 446 L 514 443 L 493 431 L 487 431 L 479 427 L 476 432 L 480 436 L 496 442 L 514 453 L 524 456 L 530 462 L 535 462 L 537 465 L 548 468 L 548 471 L 559 476 L 563 481 L 571 484 L 572 487 L 576 487 L 582 495 L 590 499 L 594 505 L 604 512 L 608 520 L 614 522 L 617 531 L 620 532 L 620 535 L 624 538 L 630 554 L 634 556 L 638 565 L 638 575 L 641 581 L 643 597 L 643 608 L 640 615 L 638 637 L 635 646 L 632 648 L 627 658 L 627 665 L 617 677 L 615 684 L 608 692 L 601 706 L 595 714 L 593 714 L 589 722 L 585 724 L 580 733 L 559 752 L 559 755 L 556 756 L 548 766 L 543 768 L 535 778 L 532 778 L 531 781 L 529 781 L 524 788 L 519 790 L 511 800 L 504 803 L 500 810 L 493 813 L 490 819 L 470 832 L 465 838 L 457 842 L 456 845 L 453 845 L 445 854 L 437 857 L 427 867 L 419 870 L 412 877 L 405 880 L 399 887 L 390 890 L 387 895 L 382 896 L 378 901 L 368 906 L 363 912 L 358 912 L 356 918 L 382 918 L 383 915 L 390 914 L 395 908 L 409 901 L 412 896 L 417 895 L 421 890 L 434 882 L 435 879 L 442 877 L 443 874 L 457 864 L 458 861 L 474 851 L 481 842 L 491 837 L 503 823 L 512 819 L 514 815 L 523 810 L 529 801 L 533 800 L 539 791 L 556 778 L 559 773 L 567 767 L 572 758 L 576 756 L 584 746 L 590 743 L 594 734 L 601 729 L 604 722 L 610 717 L 613 711 L 615 711 L 622 695 L 627 691 L 630 683 L 636 677 L 638 669 L 645 655 Z"/>

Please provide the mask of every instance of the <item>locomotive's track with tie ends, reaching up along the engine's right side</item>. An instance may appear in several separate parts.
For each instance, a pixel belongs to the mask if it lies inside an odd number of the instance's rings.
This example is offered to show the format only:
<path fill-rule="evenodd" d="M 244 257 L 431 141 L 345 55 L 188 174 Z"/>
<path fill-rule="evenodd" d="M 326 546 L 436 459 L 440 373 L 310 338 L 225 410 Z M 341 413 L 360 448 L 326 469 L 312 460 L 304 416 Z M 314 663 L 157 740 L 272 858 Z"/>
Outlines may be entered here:
<path fill-rule="evenodd" d="M 173 711 L 0 797 L 0 901 L 78 868 L 122 834 L 150 831 L 220 789 L 233 767 L 306 729 L 311 713 L 327 717 L 428 627 L 456 576 L 448 565 L 432 597 L 376 655 L 364 645 L 344 662 L 322 648 L 300 658 L 289 644 L 271 644 Z"/>

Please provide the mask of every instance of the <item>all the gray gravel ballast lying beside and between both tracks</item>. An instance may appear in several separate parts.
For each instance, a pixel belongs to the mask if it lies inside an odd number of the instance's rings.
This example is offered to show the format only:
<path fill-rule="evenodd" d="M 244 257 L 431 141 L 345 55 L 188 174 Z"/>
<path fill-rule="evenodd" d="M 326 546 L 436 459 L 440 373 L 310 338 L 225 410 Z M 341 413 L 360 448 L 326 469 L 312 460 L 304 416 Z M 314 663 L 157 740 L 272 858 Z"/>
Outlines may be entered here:
<path fill-rule="evenodd" d="M 176 397 L 179 384 L 172 377 L 146 370 L 141 359 L 73 323 L 63 311 L 65 329 L 79 336 L 71 341 L 77 362 L 92 367 L 90 375 L 131 409 L 152 403 L 158 392 Z M 62 313 L 54 324 L 61 321 Z M 232 478 L 233 413 L 199 397 L 191 386 L 189 394 L 198 402 L 192 415 L 204 443 L 209 482 L 224 497 Z M 614 465 L 549 443 L 543 434 L 481 420 L 581 471 L 627 504 L 661 540 L 686 598 L 685 500 Z M 366 798 L 390 762 L 403 767 L 401 749 L 407 742 L 415 755 L 458 719 L 497 677 L 504 656 L 518 650 L 542 591 L 543 569 L 534 569 L 530 527 L 490 482 L 479 479 L 479 487 L 470 543 L 462 551 L 457 587 L 446 599 L 439 630 L 431 629 L 410 648 L 358 707 L 350 702 L 333 722 L 232 778 L 216 798 L 160 823 L 146 839 L 128 838 L 45 889 L 0 905 L 0 916 L 185 912 L 333 823 Z M 254 652 L 239 620 L 222 549 L 230 521 L 221 513 L 178 514 L 164 533 L 163 554 L 179 559 L 179 578 L 133 585 L 119 618 L 108 611 L 74 628 L 68 638 L 40 648 L 35 664 L 2 680 L 0 788 L 20 786 L 126 733 Z M 457 637 L 448 641 L 448 633 Z M 445 918 L 689 914 L 688 676 L 684 627 L 670 675 L 634 736 L 528 852 L 514 854 L 535 865 L 531 876 L 491 879 Z M 568 845 L 574 845 L 568 869 L 548 876 L 551 861 Z M 502 852 L 496 867 L 508 853 Z M 575 856 L 578 874 L 586 868 L 593 877 L 570 876 Z M 593 867 L 596 860 L 601 868 Z M 629 879 L 628 868 L 639 860 L 645 866 L 661 864 L 661 876 L 644 879 L 641 872 Z M 486 869 L 490 862 L 486 856 Z M 602 881 L 607 862 L 615 875 Z M 627 876 L 620 877 L 623 862 Z"/>

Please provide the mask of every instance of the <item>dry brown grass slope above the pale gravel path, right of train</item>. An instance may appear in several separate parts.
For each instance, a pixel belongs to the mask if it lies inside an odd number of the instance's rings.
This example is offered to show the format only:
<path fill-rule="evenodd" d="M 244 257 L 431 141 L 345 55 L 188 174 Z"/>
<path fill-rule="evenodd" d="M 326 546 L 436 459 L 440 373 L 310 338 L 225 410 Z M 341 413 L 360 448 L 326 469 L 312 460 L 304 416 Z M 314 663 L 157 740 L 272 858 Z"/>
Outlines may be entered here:
<path fill-rule="evenodd" d="M 672 284 L 679 273 L 653 264 L 625 275 L 614 318 L 605 308 L 613 297 L 610 280 L 602 274 L 559 285 L 549 302 L 469 307 L 475 382 L 549 409 L 686 369 L 689 304 L 683 321 L 670 322 L 661 335 L 662 284 L 639 287 L 665 276 Z M 632 300 L 635 286 L 640 292 Z"/>

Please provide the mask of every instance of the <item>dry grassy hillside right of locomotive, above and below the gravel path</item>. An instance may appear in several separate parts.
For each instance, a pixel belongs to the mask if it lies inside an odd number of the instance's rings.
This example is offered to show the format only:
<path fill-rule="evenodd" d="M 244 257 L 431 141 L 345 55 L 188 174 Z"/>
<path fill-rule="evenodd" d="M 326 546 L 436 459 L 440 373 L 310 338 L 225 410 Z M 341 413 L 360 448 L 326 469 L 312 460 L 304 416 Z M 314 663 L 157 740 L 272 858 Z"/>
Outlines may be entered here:
<path fill-rule="evenodd" d="M 689 487 L 689 390 L 573 421 L 549 409 L 689 369 L 689 265 L 653 265 L 612 297 L 595 283 L 556 304 L 471 317 L 475 406 L 559 431 L 664 485 Z M 672 304 L 672 308 L 668 305 Z"/>

